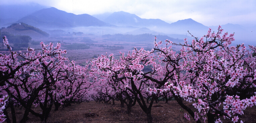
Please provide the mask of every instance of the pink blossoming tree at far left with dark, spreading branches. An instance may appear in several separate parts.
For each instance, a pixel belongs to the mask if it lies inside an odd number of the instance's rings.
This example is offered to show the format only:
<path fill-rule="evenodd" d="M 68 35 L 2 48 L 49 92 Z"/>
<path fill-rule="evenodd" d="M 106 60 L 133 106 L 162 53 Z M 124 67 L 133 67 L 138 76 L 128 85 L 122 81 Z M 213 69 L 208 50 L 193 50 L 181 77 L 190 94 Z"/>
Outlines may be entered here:
<path fill-rule="evenodd" d="M 88 66 L 81 67 L 73 61 L 66 65 L 68 58 L 62 56 L 66 50 L 61 50 L 59 43 L 54 47 L 52 43 L 45 45 L 41 42 L 39 52 L 28 48 L 23 53 L 12 52 L 6 37 L 4 44 L 10 54 L 0 56 L 0 87 L 16 104 L 25 107 L 21 123 L 27 121 L 28 113 L 46 122 L 55 102 L 85 100 L 86 89 L 92 84 L 88 83 L 86 75 Z M 32 110 L 32 105 L 40 106 L 42 112 Z M 12 115 L 15 122 L 13 110 Z"/>

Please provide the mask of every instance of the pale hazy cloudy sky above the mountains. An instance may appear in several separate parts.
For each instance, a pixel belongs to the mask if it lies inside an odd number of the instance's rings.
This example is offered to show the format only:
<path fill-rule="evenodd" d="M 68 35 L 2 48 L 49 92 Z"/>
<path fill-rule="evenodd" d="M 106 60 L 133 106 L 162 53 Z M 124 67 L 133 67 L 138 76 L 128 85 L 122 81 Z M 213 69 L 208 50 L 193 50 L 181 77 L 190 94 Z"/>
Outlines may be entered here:
<path fill-rule="evenodd" d="M 205 26 L 256 25 L 256 0 L 0 0 L 1 4 L 38 3 L 74 14 L 124 11 L 140 18 L 176 22 L 192 18 Z"/>

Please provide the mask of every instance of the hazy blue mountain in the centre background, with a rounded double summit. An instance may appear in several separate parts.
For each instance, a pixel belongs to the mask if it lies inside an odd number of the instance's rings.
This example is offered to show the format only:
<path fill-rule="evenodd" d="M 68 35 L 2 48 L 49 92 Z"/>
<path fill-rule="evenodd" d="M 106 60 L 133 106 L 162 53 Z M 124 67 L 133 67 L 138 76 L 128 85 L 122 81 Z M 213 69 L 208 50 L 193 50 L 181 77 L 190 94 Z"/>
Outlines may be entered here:
<path fill-rule="evenodd" d="M 142 19 L 135 14 L 128 12 L 114 12 L 108 16 L 104 22 L 113 24 L 116 26 L 135 26 L 135 27 L 152 27 L 152 26 L 167 26 L 166 23 L 160 19 Z"/>

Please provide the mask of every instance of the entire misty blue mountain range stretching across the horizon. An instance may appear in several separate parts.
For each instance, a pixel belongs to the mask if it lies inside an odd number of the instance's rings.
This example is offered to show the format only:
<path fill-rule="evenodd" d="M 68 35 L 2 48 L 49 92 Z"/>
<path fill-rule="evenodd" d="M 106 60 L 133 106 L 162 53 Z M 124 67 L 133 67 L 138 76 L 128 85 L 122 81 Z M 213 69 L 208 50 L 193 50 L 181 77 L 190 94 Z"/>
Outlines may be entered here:
<path fill-rule="evenodd" d="M 1 6 L 0 19 L 0 24 L 4 27 L 13 23 L 23 22 L 43 30 L 61 29 L 66 32 L 73 31 L 96 35 L 118 33 L 133 35 L 160 34 L 178 39 L 188 38 L 188 40 L 192 38 L 188 31 L 196 37 L 201 37 L 209 29 L 209 27 L 191 18 L 169 24 L 160 19 L 143 19 L 135 14 L 123 11 L 112 14 L 95 14 L 93 16 L 89 14 L 76 15 L 53 7 L 46 8 L 39 4 Z M 210 28 L 216 32 L 218 26 L 210 26 Z M 254 42 L 256 39 L 256 26 L 244 27 L 238 24 L 225 24 L 222 25 L 222 29 L 229 34 L 235 32 L 234 38 L 238 44 L 241 42 Z M 54 32 L 54 34 L 57 33 Z"/>

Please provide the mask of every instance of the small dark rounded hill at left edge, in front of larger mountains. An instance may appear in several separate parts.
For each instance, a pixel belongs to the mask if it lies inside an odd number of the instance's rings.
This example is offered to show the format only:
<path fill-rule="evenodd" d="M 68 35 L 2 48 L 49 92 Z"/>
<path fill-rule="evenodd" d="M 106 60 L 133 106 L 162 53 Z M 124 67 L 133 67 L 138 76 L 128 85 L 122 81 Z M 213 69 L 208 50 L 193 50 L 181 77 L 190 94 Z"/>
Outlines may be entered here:
<path fill-rule="evenodd" d="M 30 36 L 31 38 L 45 38 L 49 36 L 48 33 L 24 23 L 12 24 L 7 28 L 2 28 L 1 32 L 8 32 L 10 34 L 21 36 Z"/>

